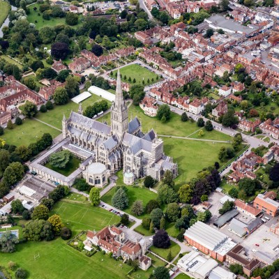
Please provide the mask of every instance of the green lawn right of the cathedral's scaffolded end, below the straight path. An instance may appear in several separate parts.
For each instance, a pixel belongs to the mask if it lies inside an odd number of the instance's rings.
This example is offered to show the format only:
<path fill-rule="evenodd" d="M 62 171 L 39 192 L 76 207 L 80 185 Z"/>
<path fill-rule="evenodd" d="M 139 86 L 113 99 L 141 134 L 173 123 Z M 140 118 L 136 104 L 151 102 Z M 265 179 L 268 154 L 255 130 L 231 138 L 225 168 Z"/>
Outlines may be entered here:
<path fill-rule="evenodd" d="M 221 146 L 229 147 L 231 144 L 220 142 L 202 142 L 196 140 L 183 140 L 173 137 L 163 137 L 164 151 L 172 156 L 174 163 L 178 163 L 179 176 L 174 179 L 176 188 L 193 179 L 197 172 L 204 167 L 213 165 L 218 161 L 218 152 Z"/>

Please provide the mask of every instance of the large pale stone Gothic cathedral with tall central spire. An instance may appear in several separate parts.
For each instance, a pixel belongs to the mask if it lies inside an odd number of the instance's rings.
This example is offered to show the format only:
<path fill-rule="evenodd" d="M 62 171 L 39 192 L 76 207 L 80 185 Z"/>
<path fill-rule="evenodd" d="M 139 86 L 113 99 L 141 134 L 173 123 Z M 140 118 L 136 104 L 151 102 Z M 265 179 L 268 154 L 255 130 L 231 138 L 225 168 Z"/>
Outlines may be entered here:
<path fill-rule="evenodd" d="M 111 126 L 83 116 L 81 107 L 78 113 L 71 112 L 68 119 L 64 116 L 62 120 L 63 139 L 89 151 L 93 154 L 93 162 L 103 164 L 110 174 L 123 169 L 135 179 L 150 175 L 160 181 L 169 170 L 177 176 L 177 164 L 165 156 L 163 140 L 153 129 L 144 134 L 141 128 L 137 117 L 128 121 L 119 71 L 111 107 Z"/>

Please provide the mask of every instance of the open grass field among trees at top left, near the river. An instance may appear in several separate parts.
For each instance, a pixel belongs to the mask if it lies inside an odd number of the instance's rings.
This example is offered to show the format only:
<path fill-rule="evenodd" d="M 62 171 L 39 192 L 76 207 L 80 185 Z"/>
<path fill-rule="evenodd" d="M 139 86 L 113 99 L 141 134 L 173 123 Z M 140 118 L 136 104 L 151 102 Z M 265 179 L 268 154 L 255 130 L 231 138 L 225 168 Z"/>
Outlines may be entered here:
<path fill-rule="evenodd" d="M 33 10 L 33 8 L 37 8 L 37 10 Z M 42 27 L 54 27 L 59 24 L 66 24 L 65 17 L 50 17 L 50 20 L 44 20 L 43 19 L 43 13 L 40 13 L 40 4 L 34 4 L 29 6 L 30 13 L 27 16 L 27 20 L 30 23 L 33 23 L 36 25 L 37 29 L 41 29 Z M 79 20 L 79 23 L 73 28 L 77 28 L 81 24 L 81 21 Z"/>

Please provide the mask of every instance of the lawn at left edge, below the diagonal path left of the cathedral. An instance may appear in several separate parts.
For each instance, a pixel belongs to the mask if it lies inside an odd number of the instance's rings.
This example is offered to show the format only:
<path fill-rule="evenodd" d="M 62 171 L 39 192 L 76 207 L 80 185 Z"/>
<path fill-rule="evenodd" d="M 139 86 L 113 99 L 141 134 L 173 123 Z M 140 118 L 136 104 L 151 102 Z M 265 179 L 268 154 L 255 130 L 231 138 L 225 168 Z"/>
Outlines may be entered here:
<path fill-rule="evenodd" d="M 4 131 L 4 135 L 1 138 L 6 140 L 7 144 L 14 144 L 15 146 L 20 146 L 24 144 L 28 146 L 31 142 L 36 142 L 42 137 L 44 133 L 50 133 L 52 138 L 57 137 L 61 132 L 50 126 L 40 123 L 39 121 L 33 119 L 25 119 L 22 121 L 22 125 L 17 126 L 13 130 Z"/>

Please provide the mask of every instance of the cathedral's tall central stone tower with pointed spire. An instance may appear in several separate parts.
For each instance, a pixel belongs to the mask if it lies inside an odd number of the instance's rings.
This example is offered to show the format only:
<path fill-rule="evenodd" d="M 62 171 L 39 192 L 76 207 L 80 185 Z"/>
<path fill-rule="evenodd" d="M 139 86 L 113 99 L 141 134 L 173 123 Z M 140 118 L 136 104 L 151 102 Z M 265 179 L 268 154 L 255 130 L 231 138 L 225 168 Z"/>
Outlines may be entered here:
<path fill-rule="evenodd" d="M 115 100 L 112 103 L 111 119 L 112 134 L 116 134 L 122 139 L 123 134 L 128 131 L 128 109 L 123 99 L 119 70 L 117 73 Z"/>

